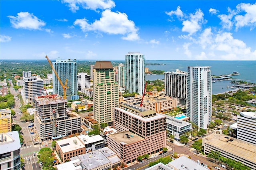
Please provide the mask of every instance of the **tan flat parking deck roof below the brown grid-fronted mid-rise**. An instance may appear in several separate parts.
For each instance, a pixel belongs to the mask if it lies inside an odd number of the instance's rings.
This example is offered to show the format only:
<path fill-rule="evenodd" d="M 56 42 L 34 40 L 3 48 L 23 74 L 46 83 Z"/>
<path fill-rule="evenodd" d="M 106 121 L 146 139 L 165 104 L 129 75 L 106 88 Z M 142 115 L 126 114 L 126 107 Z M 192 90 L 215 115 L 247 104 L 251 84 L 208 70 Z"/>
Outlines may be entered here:
<path fill-rule="evenodd" d="M 130 138 L 127 138 L 126 134 L 128 134 Z M 131 137 L 130 135 L 132 135 L 133 137 Z M 122 144 L 132 144 L 132 143 L 136 143 L 138 141 L 144 140 L 144 138 L 138 136 L 137 134 L 129 132 L 129 131 L 109 134 L 108 137 L 110 137 L 110 138 L 114 139 L 115 141 L 120 142 Z"/>

